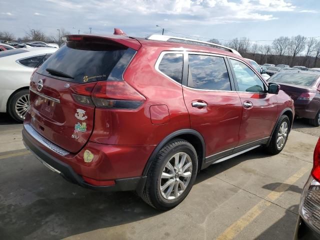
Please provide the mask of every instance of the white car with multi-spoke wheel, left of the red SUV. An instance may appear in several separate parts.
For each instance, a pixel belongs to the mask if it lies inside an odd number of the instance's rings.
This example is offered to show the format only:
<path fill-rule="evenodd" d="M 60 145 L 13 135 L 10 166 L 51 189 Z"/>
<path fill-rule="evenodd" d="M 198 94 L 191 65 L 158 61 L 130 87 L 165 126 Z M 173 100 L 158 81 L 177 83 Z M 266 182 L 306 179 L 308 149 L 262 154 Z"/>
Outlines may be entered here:
<path fill-rule="evenodd" d="M 30 76 L 56 50 L 30 47 L 0 52 L 0 112 L 23 121 L 29 105 Z"/>

